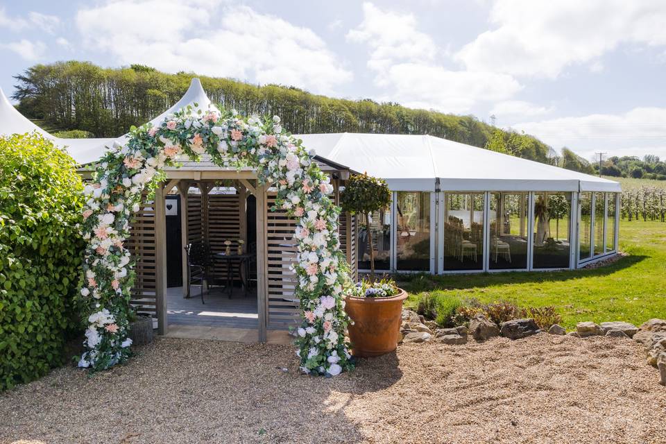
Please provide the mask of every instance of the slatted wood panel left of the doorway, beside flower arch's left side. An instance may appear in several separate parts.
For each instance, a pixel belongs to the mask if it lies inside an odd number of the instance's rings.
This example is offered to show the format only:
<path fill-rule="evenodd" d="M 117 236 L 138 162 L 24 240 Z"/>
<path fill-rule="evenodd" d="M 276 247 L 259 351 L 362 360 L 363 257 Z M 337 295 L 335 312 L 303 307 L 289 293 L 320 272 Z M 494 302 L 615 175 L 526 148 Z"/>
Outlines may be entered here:
<path fill-rule="evenodd" d="M 139 314 L 157 317 L 155 301 L 155 208 L 144 202 L 132 216 L 130 238 L 126 246 L 132 253 L 136 278 L 130 303 Z"/>

